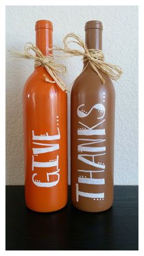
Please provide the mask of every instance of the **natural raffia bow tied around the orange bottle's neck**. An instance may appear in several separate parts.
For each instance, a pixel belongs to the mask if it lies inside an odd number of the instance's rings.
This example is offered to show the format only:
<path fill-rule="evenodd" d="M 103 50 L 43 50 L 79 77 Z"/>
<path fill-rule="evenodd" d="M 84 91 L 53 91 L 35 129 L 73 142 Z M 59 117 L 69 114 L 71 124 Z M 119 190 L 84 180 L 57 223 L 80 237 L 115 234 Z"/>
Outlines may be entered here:
<path fill-rule="evenodd" d="M 34 53 L 37 56 L 33 55 L 30 52 L 31 50 L 34 51 Z M 49 80 L 48 77 L 44 75 L 46 82 L 56 82 L 60 89 L 62 89 L 63 91 L 69 90 L 68 86 L 66 86 L 62 79 L 59 78 L 59 74 L 66 73 L 67 68 L 63 64 L 56 63 L 52 55 L 49 54 L 49 56 L 44 56 L 43 53 L 41 53 L 40 49 L 38 49 L 38 47 L 33 45 L 32 43 L 26 43 L 26 45 L 24 46 L 24 53 L 18 53 L 18 51 L 12 50 L 9 50 L 9 52 L 15 57 L 20 57 L 24 59 L 34 59 L 35 68 L 40 66 L 45 67 L 46 71 L 48 71 L 49 75 L 54 79 L 54 81 Z"/>

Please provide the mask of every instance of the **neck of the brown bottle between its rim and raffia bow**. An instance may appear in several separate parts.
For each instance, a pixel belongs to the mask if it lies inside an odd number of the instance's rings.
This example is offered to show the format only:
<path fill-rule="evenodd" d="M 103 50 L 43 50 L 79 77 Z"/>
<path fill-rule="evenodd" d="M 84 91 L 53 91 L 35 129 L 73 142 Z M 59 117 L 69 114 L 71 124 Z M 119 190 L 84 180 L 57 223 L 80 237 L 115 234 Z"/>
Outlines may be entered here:
<path fill-rule="evenodd" d="M 92 28 L 85 30 L 85 44 L 88 49 L 102 50 L 102 29 Z"/>

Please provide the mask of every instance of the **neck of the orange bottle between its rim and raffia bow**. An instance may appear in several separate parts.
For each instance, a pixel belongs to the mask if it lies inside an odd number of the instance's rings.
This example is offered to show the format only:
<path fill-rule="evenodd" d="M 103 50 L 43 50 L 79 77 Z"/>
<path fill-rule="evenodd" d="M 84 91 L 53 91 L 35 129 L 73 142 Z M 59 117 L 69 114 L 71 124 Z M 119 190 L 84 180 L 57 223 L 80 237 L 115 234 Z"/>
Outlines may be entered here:
<path fill-rule="evenodd" d="M 36 29 L 35 35 L 36 45 L 41 53 L 45 56 L 52 54 L 52 51 L 49 51 L 49 48 L 52 48 L 52 29 L 41 27 Z"/>

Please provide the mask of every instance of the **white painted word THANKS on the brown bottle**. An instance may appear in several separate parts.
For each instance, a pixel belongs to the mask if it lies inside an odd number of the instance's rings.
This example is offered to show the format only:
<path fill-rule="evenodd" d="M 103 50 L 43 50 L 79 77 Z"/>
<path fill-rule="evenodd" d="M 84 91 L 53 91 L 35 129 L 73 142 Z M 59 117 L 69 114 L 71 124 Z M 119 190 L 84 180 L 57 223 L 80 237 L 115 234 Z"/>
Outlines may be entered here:
<path fill-rule="evenodd" d="M 82 197 L 87 197 L 87 198 L 91 198 L 93 200 L 95 199 L 104 199 L 104 192 L 101 193 L 90 193 L 90 192 L 86 192 L 86 191 L 79 191 L 79 183 L 80 184 L 88 184 L 88 185 L 105 185 L 105 178 L 94 178 L 93 173 L 101 173 L 104 172 L 106 166 L 104 163 L 98 162 L 98 160 L 96 161 L 97 158 L 99 158 L 99 156 L 104 156 L 106 155 L 106 147 L 105 146 L 100 146 L 98 145 L 96 147 L 97 144 L 101 144 L 103 142 L 106 141 L 106 139 L 99 138 L 99 139 L 89 139 L 89 136 L 104 136 L 106 135 L 106 130 L 105 128 L 103 129 L 97 129 L 98 126 L 102 125 L 105 122 L 104 119 L 104 115 L 105 115 L 105 107 L 103 104 L 95 104 L 94 106 L 92 106 L 92 108 L 90 108 L 90 110 L 87 112 L 84 110 L 85 104 L 81 104 L 78 108 L 77 108 L 77 115 L 80 118 L 87 118 L 88 115 L 91 114 L 92 110 L 95 109 L 96 111 L 98 111 L 100 114 L 102 113 L 102 115 L 100 117 L 97 117 L 97 119 L 103 119 L 101 120 L 101 122 L 96 123 L 95 125 L 93 125 L 92 127 L 85 125 L 84 122 L 78 122 L 79 125 L 81 125 L 80 128 L 77 129 L 77 135 L 78 136 L 85 136 L 85 138 L 83 137 L 78 137 L 77 140 L 78 141 L 82 141 L 83 143 L 78 144 L 77 145 L 77 151 L 79 152 L 77 155 L 77 158 L 79 159 L 79 161 L 81 161 L 82 163 L 85 163 L 86 165 L 89 166 L 93 166 L 96 168 L 99 168 L 98 170 L 87 170 L 87 166 L 85 167 L 86 170 L 77 170 L 78 172 L 84 172 L 90 175 L 90 177 L 83 175 L 79 175 L 78 177 L 78 183 L 76 183 L 76 201 L 79 202 L 79 196 Z M 94 120 L 96 120 L 95 118 L 93 118 Z M 88 136 L 88 137 L 86 137 Z M 88 152 L 87 154 L 82 153 L 82 152 Z M 95 153 L 96 154 L 95 154 Z M 92 154 L 94 153 L 94 154 Z"/>

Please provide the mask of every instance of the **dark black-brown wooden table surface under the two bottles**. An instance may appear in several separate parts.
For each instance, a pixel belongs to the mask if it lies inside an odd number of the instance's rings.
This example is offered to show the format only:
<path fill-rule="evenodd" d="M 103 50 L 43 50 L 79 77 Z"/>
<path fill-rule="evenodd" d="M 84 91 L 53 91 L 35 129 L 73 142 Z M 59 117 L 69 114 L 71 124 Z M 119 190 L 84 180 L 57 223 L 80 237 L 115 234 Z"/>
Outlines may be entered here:
<path fill-rule="evenodd" d="M 69 191 L 70 194 L 70 191 Z M 6 186 L 6 250 L 138 250 L 138 187 L 115 186 L 113 207 L 85 213 L 26 208 L 24 186 Z"/>

